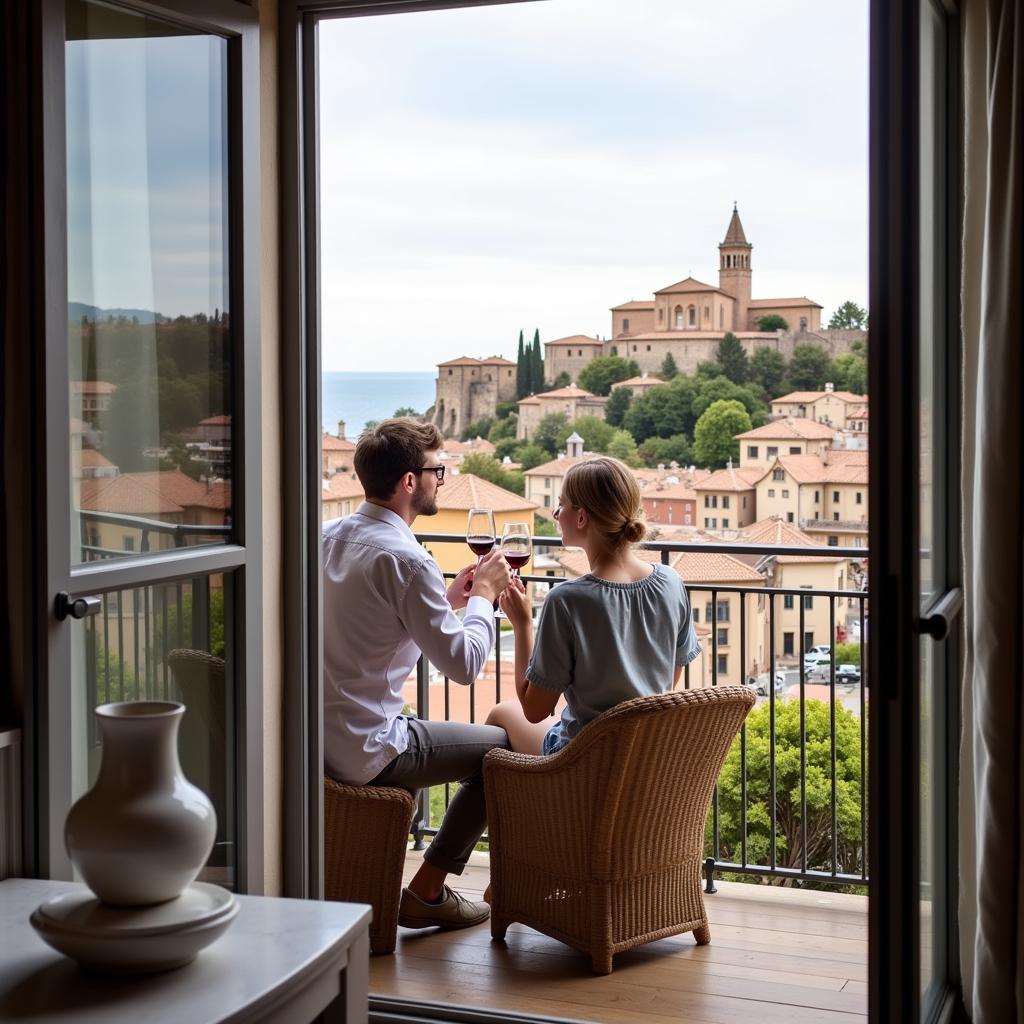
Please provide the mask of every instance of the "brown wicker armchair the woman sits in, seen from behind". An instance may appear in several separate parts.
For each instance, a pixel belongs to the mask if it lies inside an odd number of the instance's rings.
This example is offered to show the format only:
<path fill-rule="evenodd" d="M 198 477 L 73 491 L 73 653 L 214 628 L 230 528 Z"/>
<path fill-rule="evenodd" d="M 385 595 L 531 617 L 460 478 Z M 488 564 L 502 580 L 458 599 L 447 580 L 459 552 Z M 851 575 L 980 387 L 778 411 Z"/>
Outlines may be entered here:
<path fill-rule="evenodd" d="M 551 757 L 490 751 L 490 933 L 529 925 L 590 953 L 596 974 L 654 939 L 711 941 L 705 818 L 755 701 L 745 686 L 637 697 Z"/>

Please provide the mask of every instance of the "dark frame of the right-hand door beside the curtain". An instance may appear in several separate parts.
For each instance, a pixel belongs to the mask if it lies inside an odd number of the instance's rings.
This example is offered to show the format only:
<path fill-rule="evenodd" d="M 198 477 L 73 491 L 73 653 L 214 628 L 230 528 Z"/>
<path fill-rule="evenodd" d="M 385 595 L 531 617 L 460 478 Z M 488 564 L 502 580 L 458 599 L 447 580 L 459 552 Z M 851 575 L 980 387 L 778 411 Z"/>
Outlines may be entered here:
<path fill-rule="evenodd" d="M 872 1022 L 921 1020 L 921 672 L 920 551 L 906 539 L 921 536 L 920 362 L 921 329 L 919 203 L 921 156 L 922 9 L 931 0 L 871 0 L 869 116 L 869 308 L 868 382 L 871 432 L 885 443 L 870 446 L 869 498 L 871 636 L 868 644 L 873 714 L 870 735 L 868 909 L 868 1008 Z M 959 238 L 962 223 L 962 103 L 959 26 L 956 4 L 937 0 L 947 18 L 945 91 L 939 97 L 946 131 L 945 343 L 948 416 L 945 423 L 947 485 L 946 586 L 958 588 L 959 492 Z M 940 851 L 945 886 L 946 976 L 932 1019 L 962 1014 L 956 929 L 957 780 L 959 740 L 959 629 L 946 643 L 945 724 L 946 843 Z"/>

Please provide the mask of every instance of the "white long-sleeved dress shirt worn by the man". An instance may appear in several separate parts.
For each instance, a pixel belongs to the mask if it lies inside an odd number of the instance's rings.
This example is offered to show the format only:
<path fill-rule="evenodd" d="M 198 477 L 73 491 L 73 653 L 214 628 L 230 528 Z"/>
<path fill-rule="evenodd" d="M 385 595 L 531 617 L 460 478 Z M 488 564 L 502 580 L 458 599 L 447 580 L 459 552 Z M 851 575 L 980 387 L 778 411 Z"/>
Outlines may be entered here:
<path fill-rule="evenodd" d="M 494 609 L 471 597 L 460 622 L 444 578 L 404 520 L 370 502 L 324 524 L 324 754 L 361 785 L 408 744 L 402 686 L 421 651 L 471 683 L 495 640 Z"/>

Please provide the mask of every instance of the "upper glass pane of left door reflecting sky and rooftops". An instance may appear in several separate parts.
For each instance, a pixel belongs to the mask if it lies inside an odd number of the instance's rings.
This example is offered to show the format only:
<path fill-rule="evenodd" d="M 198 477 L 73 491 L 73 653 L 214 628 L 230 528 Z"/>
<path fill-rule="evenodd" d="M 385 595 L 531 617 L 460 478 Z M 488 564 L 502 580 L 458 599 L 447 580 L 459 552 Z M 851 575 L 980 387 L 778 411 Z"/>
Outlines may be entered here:
<path fill-rule="evenodd" d="M 72 560 L 225 541 L 226 42 L 67 13 Z"/>

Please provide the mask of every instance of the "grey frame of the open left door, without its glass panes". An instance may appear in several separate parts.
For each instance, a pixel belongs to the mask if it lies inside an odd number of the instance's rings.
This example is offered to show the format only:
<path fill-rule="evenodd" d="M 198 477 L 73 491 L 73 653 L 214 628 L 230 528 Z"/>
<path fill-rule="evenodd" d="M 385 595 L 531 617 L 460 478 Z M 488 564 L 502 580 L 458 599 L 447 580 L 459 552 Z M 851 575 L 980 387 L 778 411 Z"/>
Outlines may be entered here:
<path fill-rule="evenodd" d="M 59 591 L 84 596 L 97 591 L 158 584 L 211 572 L 234 581 L 236 680 L 234 785 L 238 794 L 238 888 L 263 887 L 263 708 L 261 671 L 262 541 L 260 473 L 260 173 L 259 26 L 254 10 L 229 0 L 119 0 L 121 6 L 184 24 L 227 39 L 227 145 L 229 306 L 231 368 L 233 543 L 191 548 L 104 566 L 71 566 L 68 509 L 71 449 L 68 434 L 67 165 L 65 158 L 65 4 L 34 5 L 27 60 L 33 185 L 25 239 L 31 253 L 32 287 L 22 309 L 34 344 L 22 421 L 33 441 L 32 485 L 19 505 L 12 537 L 26 537 L 33 580 L 19 583 L 35 635 L 26 645 L 31 679 L 20 686 L 26 744 L 24 863 L 29 873 L 71 878 L 62 843 L 71 803 L 69 755 L 72 718 L 67 697 L 71 634 L 54 614 Z M 19 528 L 20 527 L 20 528 Z M 246 624 L 252 624 L 247 629 Z"/>

